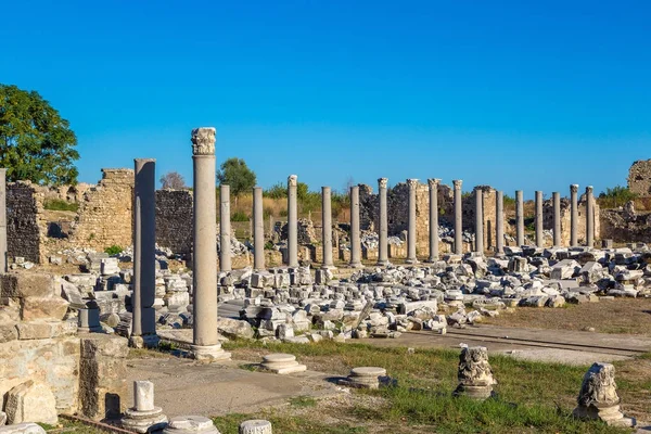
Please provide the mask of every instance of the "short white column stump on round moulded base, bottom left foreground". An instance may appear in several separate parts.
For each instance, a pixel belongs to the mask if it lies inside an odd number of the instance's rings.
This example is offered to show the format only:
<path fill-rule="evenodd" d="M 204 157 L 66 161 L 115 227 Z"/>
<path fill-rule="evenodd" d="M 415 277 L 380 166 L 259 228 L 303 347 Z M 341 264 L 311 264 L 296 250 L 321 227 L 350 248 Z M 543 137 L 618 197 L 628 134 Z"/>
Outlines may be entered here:
<path fill-rule="evenodd" d="M 154 406 L 154 383 L 133 382 L 133 407 L 125 411 L 120 424 L 124 429 L 137 433 L 156 432 L 167 425 L 167 417 L 163 414 L 163 409 Z"/>

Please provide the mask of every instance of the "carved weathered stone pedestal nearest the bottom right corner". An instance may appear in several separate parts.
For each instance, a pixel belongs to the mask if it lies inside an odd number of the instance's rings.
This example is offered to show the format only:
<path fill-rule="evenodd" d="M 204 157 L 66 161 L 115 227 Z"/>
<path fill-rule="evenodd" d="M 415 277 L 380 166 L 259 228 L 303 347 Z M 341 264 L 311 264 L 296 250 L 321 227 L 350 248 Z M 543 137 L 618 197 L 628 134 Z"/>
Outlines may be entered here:
<path fill-rule="evenodd" d="M 615 384 L 615 367 L 611 363 L 593 363 L 586 372 L 574 409 L 574 417 L 599 419 L 613 426 L 631 427 L 633 418 L 620 411 L 620 396 Z"/>

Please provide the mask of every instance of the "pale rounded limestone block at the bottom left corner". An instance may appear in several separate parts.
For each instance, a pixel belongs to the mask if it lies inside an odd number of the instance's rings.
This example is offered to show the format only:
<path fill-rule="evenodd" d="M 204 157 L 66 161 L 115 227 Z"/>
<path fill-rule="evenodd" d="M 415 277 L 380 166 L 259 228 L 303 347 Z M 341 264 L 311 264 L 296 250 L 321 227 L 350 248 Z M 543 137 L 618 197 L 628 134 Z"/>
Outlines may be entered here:
<path fill-rule="evenodd" d="M 56 399 L 52 390 L 44 383 L 35 383 L 31 380 L 8 392 L 4 411 L 9 424 L 27 421 L 55 424 L 59 421 Z"/>

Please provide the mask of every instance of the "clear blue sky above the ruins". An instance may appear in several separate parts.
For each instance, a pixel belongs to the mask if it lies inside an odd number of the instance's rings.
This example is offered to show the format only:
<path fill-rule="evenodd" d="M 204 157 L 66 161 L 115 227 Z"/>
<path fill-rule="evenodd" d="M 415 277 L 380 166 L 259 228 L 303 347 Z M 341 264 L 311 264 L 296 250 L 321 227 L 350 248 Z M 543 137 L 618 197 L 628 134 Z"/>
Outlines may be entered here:
<path fill-rule="evenodd" d="M 649 1 L 13 1 L 0 82 L 77 133 L 80 181 L 217 128 L 269 187 L 405 178 L 567 194 L 651 158 Z"/>

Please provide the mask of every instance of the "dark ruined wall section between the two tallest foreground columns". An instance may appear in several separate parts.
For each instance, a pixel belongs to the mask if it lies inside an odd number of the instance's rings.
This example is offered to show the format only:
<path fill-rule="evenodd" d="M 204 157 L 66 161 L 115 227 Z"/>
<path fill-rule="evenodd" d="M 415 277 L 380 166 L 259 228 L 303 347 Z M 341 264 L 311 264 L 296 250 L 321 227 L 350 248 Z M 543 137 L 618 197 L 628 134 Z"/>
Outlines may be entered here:
<path fill-rule="evenodd" d="M 192 252 L 194 197 L 190 190 L 156 191 L 156 243 L 174 253 Z"/>

